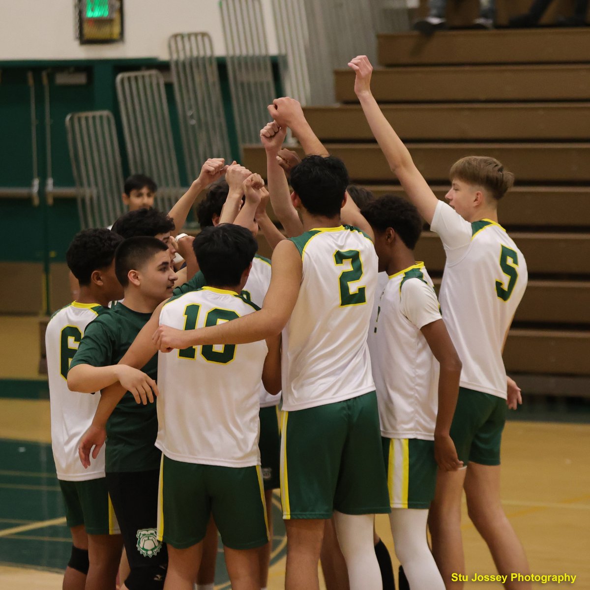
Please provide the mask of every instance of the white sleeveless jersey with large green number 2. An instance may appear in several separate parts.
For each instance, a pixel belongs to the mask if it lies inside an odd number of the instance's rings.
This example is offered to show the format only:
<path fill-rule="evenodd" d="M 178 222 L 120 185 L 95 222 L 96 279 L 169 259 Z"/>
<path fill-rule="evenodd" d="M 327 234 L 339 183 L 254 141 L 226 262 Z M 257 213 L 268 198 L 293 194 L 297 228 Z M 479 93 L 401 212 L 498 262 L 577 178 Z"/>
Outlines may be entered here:
<path fill-rule="evenodd" d="M 373 242 L 348 225 L 291 238 L 301 254 L 297 303 L 283 330 L 283 409 L 375 389 L 366 343 L 377 284 Z"/>

